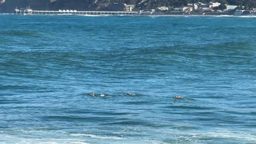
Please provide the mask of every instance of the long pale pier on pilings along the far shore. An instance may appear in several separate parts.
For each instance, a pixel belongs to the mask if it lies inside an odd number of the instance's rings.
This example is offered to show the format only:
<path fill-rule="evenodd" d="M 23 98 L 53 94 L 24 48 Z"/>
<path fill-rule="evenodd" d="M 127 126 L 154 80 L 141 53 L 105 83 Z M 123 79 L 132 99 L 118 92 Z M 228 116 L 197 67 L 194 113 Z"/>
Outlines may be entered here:
<path fill-rule="evenodd" d="M 33 10 L 15 9 L 15 14 L 21 15 L 139 15 L 137 11 L 77 11 L 77 10 Z"/>

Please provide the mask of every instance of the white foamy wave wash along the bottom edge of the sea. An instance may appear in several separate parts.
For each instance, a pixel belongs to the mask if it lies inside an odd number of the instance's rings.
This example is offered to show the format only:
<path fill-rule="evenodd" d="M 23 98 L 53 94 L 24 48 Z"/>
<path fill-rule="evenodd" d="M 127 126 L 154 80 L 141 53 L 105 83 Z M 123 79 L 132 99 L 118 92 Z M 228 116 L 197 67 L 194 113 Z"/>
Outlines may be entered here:
<path fill-rule="evenodd" d="M 135 129 L 136 130 L 136 129 Z M 127 129 L 125 129 L 127 131 Z M 132 130 L 134 131 L 134 130 Z M 15 134 L 21 132 L 22 134 Z M 130 132 L 130 130 L 128 130 Z M 141 131 L 136 130 L 141 133 Z M 169 137 L 164 140 L 157 139 L 132 139 L 131 137 L 122 136 L 107 136 L 107 135 L 95 135 L 95 134 L 82 134 L 82 133 L 67 133 L 63 131 L 42 131 L 42 130 L 14 130 L 14 131 L 0 131 L 2 142 L 8 141 L 10 143 L 77 143 L 86 144 L 89 139 L 106 140 L 120 142 L 129 140 L 133 142 L 142 141 L 155 141 L 155 143 L 176 143 L 176 142 L 189 142 L 189 143 L 207 143 L 213 140 L 225 141 L 226 143 L 237 141 L 237 143 L 256 142 L 256 135 L 251 133 L 237 133 L 235 131 L 217 130 L 217 131 L 197 131 L 194 133 L 184 133 L 184 131 L 173 131 L 173 137 Z M 30 137 L 27 137 L 30 134 Z M 51 137 L 49 137 L 51 135 Z M 53 138 L 55 135 L 59 138 Z M 34 137 L 33 137 L 34 136 Z M 40 136 L 40 137 L 38 137 Z M 86 141 L 86 142 L 85 142 Z"/>

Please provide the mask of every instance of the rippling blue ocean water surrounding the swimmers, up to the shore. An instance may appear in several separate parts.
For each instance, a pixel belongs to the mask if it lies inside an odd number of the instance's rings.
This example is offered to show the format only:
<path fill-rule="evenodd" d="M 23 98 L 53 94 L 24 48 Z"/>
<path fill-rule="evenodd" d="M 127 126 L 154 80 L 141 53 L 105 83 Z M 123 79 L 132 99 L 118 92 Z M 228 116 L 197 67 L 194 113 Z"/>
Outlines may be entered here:
<path fill-rule="evenodd" d="M 255 23 L 0 15 L 0 143 L 256 143 Z"/>

